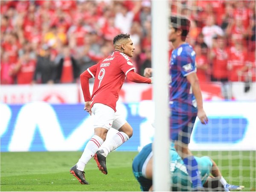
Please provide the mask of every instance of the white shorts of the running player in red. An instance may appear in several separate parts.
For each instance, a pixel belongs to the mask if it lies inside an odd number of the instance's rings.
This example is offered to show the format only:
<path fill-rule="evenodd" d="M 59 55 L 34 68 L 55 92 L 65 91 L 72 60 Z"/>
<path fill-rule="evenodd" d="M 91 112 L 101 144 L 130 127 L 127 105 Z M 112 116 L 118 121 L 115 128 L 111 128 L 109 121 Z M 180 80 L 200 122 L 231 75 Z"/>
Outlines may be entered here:
<path fill-rule="evenodd" d="M 94 103 L 92 112 L 94 114 L 93 128 L 101 127 L 109 130 L 112 127 L 119 130 L 127 122 L 118 111 L 115 113 L 111 107 L 101 103 Z"/>

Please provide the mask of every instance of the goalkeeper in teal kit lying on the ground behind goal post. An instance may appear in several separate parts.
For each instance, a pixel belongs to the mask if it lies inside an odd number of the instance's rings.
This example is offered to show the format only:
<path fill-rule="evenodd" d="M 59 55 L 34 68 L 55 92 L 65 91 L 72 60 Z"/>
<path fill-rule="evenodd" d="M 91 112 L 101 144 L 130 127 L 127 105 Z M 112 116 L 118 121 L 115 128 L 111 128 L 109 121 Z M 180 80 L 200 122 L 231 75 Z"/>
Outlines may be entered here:
<path fill-rule="evenodd" d="M 152 191 L 152 143 L 145 145 L 140 153 L 134 158 L 132 169 L 134 176 L 140 183 L 142 191 Z M 169 157 L 171 160 L 170 171 L 172 174 L 171 191 L 191 191 L 192 182 L 187 173 L 181 157 L 177 154 L 173 144 L 170 146 Z M 207 156 L 195 157 L 201 174 L 202 185 L 205 191 L 230 191 L 241 190 L 244 186 L 230 185 L 222 177 L 216 163 Z"/>

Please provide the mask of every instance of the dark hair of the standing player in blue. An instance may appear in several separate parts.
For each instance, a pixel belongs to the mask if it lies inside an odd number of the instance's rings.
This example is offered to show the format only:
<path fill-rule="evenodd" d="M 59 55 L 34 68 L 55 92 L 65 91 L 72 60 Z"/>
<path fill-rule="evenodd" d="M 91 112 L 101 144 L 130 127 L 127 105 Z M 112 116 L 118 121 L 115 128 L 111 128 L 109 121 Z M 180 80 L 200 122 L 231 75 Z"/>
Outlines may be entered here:
<path fill-rule="evenodd" d="M 182 41 L 185 41 L 186 36 L 189 33 L 190 20 L 185 17 L 171 16 L 170 24 L 172 24 L 172 27 L 175 29 L 175 31 L 177 31 L 177 29 L 181 30 L 181 39 Z"/>

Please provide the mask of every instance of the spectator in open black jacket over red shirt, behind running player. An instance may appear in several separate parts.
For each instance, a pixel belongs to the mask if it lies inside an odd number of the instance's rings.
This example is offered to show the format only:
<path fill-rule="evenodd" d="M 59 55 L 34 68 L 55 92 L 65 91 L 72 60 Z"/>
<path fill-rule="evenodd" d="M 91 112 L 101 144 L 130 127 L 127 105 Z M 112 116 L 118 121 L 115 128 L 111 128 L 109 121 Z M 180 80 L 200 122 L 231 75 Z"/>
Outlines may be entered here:
<path fill-rule="evenodd" d="M 61 59 L 56 66 L 55 83 L 74 83 L 80 75 L 79 65 L 68 46 L 62 49 Z"/>

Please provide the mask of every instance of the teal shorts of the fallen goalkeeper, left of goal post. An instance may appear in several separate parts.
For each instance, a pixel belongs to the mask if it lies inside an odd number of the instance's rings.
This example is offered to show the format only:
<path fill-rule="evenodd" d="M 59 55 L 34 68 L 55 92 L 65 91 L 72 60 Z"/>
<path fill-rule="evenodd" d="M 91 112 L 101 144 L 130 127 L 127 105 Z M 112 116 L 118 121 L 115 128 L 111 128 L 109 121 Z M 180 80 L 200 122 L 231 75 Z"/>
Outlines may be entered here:
<path fill-rule="evenodd" d="M 140 153 L 134 158 L 132 163 L 132 171 L 134 173 L 135 178 L 140 183 L 141 191 L 148 191 L 152 186 L 152 180 L 143 177 L 142 175 L 142 167 L 147 159 L 148 155 L 152 151 L 152 143 L 145 145 Z"/>

